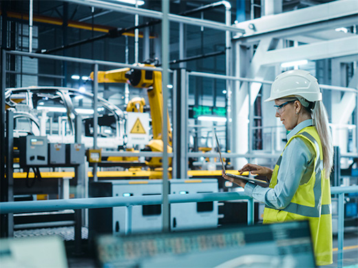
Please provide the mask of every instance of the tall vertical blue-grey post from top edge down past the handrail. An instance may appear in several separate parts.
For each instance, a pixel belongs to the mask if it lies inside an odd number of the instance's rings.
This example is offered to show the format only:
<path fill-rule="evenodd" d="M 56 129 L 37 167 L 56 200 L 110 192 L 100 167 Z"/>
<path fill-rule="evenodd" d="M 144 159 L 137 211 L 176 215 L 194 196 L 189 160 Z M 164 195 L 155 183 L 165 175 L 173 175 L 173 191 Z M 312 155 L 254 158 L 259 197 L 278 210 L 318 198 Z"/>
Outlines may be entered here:
<path fill-rule="evenodd" d="M 163 156 L 162 156 L 162 202 L 163 202 L 163 231 L 170 230 L 170 214 L 169 214 L 169 180 L 168 180 L 168 87 L 169 85 L 169 1 L 162 0 L 162 141 L 163 141 Z"/>

